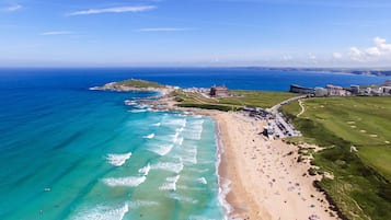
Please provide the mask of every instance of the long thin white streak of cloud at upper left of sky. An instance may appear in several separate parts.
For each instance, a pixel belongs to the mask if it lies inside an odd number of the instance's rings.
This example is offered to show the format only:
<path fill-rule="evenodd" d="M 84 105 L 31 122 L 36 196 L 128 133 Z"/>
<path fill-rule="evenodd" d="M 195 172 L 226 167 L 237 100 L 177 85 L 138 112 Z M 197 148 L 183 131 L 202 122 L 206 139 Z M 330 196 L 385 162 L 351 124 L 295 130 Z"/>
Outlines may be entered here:
<path fill-rule="evenodd" d="M 71 12 L 68 15 L 89 15 L 89 14 L 101 14 L 101 13 L 124 13 L 124 12 L 143 12 L 156 9 L 154 5 L 141 5 L 141 7 L 115 7 L 105 9 L 88 9 L 82 11 Z"/>

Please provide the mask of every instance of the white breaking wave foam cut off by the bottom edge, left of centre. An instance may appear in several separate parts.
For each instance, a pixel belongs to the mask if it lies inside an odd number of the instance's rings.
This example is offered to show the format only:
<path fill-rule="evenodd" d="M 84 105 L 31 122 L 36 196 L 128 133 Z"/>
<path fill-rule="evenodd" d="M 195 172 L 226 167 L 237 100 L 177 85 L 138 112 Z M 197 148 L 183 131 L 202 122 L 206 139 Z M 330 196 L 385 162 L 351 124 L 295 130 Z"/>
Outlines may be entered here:
<path fill-rule="evenodd" d="M 120 207 L 97 206 L 80 211 L 73 218 L 74 220 L 122 220 L 129 211 L 127 204 Z"/>

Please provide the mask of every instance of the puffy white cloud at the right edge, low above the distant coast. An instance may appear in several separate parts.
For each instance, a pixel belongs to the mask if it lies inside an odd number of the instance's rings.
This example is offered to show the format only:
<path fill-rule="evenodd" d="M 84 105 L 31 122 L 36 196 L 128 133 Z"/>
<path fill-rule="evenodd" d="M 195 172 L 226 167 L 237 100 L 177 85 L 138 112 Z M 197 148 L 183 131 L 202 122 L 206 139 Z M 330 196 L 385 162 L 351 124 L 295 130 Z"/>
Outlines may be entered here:
<path fill-rule="evenodd" d="M 381 37 L 375 37 L 373 44 L 373 47 L 364 49 L 352 47 L 348 53 L 349 58 L 357 61 L 379 61 L 383 59 L 391 59 L 391 44 L 387 44 L 387 40 Z"/>

